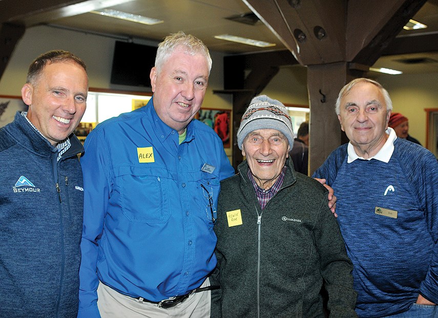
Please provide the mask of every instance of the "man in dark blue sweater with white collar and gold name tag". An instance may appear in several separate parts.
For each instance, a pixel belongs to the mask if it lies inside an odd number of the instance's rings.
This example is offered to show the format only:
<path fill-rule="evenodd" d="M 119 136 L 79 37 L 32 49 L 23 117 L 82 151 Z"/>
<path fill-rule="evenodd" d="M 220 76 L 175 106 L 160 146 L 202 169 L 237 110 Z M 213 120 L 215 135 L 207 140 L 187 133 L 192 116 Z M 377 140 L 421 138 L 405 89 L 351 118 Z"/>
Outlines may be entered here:
<path fill-rule="evenodd" d="M 392 102 L 377 82 L 341 90 L 336 113 L 350 142 L 314 176 L 338 197 L 360 317 L 438 317 L 438 163 L 388 128 Z"/>

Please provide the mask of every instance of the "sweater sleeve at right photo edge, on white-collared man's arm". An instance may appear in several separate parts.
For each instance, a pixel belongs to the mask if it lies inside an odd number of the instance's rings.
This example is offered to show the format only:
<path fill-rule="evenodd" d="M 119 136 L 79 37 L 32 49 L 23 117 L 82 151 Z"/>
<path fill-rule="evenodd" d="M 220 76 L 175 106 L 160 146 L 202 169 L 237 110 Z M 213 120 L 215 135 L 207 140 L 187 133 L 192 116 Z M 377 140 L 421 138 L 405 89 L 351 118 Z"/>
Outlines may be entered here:
<path fill-rule="evenodd" d="M 438 162 L 431 152 L 422 156 L 421 170 L 411 166 L 412 175 L 417 178 L 421 204 L 426 213 L 427 229 L 435 243 L 432 260 L 425 280 L 420 285 L 420 293 L 429 301 L 438 305 Z"/>

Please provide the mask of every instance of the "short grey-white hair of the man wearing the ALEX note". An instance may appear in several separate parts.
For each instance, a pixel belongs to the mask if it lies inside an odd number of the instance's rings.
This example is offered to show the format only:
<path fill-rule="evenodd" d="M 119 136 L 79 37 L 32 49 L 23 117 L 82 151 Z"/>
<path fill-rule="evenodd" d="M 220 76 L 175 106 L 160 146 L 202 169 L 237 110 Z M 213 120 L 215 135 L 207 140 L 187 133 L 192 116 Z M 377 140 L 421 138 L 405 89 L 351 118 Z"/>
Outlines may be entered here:
<path fill-rule="evenodd" d="M 166 36 L 164 41 L 158 45 L 157 56 L 155 57 L 155 68 L 157 69 L 157 73 L 160 72 L 164 62 L 179 47 L 184 47 L 183 52 L 185 54 L 204 55 L 205 59 L 207 60 L 208 74 L 210 74 L 213 62 L 210 52 L 208 52 L 208 48 L 199 38 L 191 34 L 186 35 L 182 31 Z"/>

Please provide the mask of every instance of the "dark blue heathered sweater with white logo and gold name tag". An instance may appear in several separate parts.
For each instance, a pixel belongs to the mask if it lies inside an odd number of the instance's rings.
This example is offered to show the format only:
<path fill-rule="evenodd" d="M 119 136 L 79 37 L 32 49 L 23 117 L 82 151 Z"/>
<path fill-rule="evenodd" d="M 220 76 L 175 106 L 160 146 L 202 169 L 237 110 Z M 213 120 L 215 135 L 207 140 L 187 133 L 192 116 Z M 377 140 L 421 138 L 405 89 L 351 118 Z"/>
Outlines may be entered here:
<path fill-rule="evenodd" d="M 314 176 L 326 178 L 338 197 L 358 315 L 406 311 L 419 293 L 438 304 L 438 163 L 433 154 L 397 138 L 388 163 L 347 163 L 343 145 Z"/>

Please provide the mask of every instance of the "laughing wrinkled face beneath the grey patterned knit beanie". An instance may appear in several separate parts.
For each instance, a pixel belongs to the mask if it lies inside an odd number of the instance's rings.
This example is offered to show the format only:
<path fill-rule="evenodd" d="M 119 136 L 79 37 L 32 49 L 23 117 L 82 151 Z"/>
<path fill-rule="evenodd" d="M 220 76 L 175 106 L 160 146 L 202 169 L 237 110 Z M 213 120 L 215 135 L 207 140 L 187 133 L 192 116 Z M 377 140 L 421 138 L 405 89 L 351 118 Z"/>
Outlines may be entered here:
<path fill-rule="evenodd" d="M 258 129 L 248 133 L 243 141 L 242 155 L 257 185 L 269 189 L 277 181 L 288 157 L 286 136 L 275 129 Z"/>

